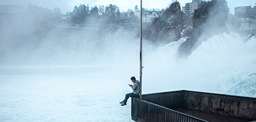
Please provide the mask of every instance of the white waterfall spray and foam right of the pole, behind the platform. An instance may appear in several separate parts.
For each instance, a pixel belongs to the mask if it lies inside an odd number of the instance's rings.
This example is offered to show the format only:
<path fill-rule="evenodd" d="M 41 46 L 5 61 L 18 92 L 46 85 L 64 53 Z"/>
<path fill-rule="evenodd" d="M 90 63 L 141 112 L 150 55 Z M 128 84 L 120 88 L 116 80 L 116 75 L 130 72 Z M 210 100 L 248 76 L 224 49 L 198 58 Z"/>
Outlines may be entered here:
<path fill-rule="evenodd" d="M 245 41 L 236 33 L 213 36 L 187 59 L 177 59 L 177 46 L 170 45 L 156 49 L 144 59 L 146 93 L 191 89 L 256 96 L 255 38 Z"/>

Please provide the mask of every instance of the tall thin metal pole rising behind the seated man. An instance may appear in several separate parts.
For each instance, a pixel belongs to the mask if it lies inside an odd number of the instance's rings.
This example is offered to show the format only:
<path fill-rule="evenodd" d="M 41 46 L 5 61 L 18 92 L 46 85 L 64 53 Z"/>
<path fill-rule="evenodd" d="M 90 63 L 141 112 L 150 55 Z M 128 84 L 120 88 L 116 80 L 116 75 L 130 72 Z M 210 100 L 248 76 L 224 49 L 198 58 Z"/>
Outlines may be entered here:
<path fill-rule="evenodd" d="M 140 0 L 140 99 L 142 99 L 142 0 Z"/>

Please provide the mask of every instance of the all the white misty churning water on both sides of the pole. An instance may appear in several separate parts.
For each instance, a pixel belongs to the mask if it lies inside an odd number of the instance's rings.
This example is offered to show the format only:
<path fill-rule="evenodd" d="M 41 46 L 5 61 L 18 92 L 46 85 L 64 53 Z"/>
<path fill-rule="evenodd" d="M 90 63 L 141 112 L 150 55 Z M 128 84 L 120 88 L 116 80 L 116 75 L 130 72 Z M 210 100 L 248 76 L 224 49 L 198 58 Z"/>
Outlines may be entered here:
<path fill-rule="evenodd" d="M 28 59 L 3 59 L 0 121 L 132 121 L 130 100 L 125 107 L 119 102 L 131 92 L 130 77 L 139 78 L 139 40 L 123 31 L 100 43 L 72 37 L 67 40 L 79 46 L 62 49 L 49 37 L 48 48 L 35 49 Z M 144 43 L 143 93 L 188 89 L 256 97 L 256 38 L 223 33 L 180 59 L 177 47 L 184 40 L 161 47 Z"/>

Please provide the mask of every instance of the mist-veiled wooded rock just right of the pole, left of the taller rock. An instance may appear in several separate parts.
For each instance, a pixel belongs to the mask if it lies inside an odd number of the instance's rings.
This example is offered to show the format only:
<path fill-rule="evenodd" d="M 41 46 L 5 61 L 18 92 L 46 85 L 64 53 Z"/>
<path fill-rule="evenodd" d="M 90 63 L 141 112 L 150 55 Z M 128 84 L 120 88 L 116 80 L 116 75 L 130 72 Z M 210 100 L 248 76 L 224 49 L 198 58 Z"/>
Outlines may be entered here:
<path fill-rule="evenodd" d="M 155 43 L 170 43 L 181 38 L 183 30 L 183 13 L 180 11 L 180 3 L 175 2 L 163 11 L 163 14 L 154 18 L 151 26 L 145 33 L 147 39 Z"/>

